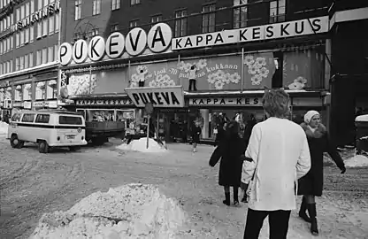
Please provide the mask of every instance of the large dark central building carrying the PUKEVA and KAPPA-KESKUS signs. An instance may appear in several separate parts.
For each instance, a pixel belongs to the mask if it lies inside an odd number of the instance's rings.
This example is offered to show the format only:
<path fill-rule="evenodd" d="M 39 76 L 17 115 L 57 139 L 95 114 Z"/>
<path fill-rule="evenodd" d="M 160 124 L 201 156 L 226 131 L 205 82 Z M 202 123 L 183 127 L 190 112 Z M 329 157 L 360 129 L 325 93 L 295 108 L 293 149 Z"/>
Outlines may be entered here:
<path fill-rule="evenodd" d="M 314 109 L 330 127 L 333 1 L 68 3 L 61 88 L 87 120 L 141 125 L 150 101 L 159 134 L 186 139 L 199 119 L 203 140 L 211 141 L 219 115 L 246 112 L 262 120 L 263 89 L 283 87 L 293 120 Z M 76 27 L 82 21 L 85 27 Z M 98 35 L 86 34 L 94 28 Z"/>

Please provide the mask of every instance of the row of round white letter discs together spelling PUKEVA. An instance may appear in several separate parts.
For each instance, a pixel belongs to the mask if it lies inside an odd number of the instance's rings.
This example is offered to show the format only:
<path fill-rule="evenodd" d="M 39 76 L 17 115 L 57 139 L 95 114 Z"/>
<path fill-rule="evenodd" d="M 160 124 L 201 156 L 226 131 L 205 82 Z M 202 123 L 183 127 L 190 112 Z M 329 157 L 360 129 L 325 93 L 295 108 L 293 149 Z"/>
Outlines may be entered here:
<path fill-rule="evenodd" d="M 58 50 L 58 59 L 62 66 L 74 62 L 80 64 L 88 58 L 91 61 L 108 58 L 120 58 L 126 51 L 129 56 L 135 57 L 142 54 L 146 47 L 152 52 L 160 53 L 170 46 L 173 39 L 172 28 L 165 23 L 157 23 L 151 27 L 147 34 L 142 28 L 135 27 L 126 37 L 119 32 L 112 33 L 106 41 L 97 35 L 89 42 L 78 40 L 73 45 L 64 42 Z"/>

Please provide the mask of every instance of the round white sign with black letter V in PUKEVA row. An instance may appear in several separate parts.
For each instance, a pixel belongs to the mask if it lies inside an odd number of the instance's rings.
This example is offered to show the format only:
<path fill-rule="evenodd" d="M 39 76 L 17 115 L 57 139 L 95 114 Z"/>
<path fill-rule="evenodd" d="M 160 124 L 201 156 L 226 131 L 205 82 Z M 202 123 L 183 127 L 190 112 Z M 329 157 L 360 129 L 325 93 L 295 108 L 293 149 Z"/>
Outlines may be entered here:
<path fill-rule="evenodd" d="M 126 52 L 137 56 L 146 48 L 147 34 L 141 27 L 135 27 L 126 35 Z"/>

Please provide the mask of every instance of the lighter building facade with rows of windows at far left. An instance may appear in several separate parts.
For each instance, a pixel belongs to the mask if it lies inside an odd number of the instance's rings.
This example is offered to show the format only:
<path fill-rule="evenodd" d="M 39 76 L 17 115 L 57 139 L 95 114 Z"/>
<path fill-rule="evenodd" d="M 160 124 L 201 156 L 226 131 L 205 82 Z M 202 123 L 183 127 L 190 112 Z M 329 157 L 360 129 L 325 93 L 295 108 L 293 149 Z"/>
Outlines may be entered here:
<path fill-rule="evenodd" d="M 56 108 L 59 0 L 0 1 L 0 106 Z"/>

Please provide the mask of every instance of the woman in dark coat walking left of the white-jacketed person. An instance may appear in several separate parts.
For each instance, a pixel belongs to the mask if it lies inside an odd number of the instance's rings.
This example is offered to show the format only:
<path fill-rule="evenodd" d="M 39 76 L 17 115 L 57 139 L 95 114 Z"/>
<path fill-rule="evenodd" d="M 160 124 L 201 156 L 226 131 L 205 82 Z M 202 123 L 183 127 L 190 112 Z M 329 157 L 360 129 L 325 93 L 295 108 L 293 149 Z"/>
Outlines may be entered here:
<path fill-rule="evenodd" d="M 234 205 L 239 205 L 239 187 L 242 179 L 242 162 L 246 148 L 241 135 L 240 124 L 230 122 L 226 127 L 224 139 L 212 153 L 210 166 L 215 166 L 219 160 L 219 185 L 224 187 L 224 204 L 230 205 L 230 187 L 234 190 Z"/>

